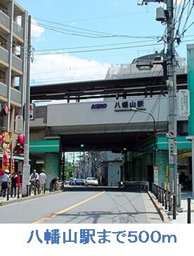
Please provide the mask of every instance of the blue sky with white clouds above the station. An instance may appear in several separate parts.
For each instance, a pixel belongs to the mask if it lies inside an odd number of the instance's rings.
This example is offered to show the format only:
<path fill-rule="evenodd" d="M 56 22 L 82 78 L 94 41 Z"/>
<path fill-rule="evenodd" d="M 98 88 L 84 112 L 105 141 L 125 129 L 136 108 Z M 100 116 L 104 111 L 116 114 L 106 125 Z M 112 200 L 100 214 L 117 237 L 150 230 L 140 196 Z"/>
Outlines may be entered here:
<path fill-rule="evenodd" d="M 155 20 L 156 8 L 163 4 L 138 6 L 138 0 L 17 2 L 32 16 L 31 85 L 104 79 L 111 65 L 131 63 L 164 48 L 157 41 L 165 25 Z M 186 44 L 194 42 L 194 25 L 183 41 L 187 42 L 181 42 L 176 51 L 186 58 Z"/>

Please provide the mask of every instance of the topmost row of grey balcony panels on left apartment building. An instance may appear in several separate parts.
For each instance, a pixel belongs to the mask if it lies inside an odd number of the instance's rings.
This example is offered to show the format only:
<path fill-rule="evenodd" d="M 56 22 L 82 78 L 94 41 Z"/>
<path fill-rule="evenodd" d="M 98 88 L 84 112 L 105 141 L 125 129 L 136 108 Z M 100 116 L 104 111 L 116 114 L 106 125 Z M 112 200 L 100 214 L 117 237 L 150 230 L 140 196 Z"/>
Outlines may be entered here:
<path fill-rule="evenodd" d="M 0 28 L 3 28 L 6 32 L 10 32 L 10 18 L 3 11 L 0 11 Z M 15 23 L 15 21 L 13 22 L 13 37 L 19 42 L 23 42 L 23 28 L 18 23 Z"/>

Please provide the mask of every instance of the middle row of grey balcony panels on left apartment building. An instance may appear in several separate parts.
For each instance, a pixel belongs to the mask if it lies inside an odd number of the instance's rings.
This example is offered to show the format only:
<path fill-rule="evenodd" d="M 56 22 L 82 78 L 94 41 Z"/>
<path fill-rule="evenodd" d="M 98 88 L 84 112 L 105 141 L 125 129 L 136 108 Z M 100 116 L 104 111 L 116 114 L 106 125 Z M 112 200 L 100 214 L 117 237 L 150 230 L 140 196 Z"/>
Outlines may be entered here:
<path fill-rule="evenodd" d="M 8 67 L 8 50 L 0 47 L 0 62 Z M 12 70 L 16 75 L 22 75 L 22 59 L 12 54 Z"/>

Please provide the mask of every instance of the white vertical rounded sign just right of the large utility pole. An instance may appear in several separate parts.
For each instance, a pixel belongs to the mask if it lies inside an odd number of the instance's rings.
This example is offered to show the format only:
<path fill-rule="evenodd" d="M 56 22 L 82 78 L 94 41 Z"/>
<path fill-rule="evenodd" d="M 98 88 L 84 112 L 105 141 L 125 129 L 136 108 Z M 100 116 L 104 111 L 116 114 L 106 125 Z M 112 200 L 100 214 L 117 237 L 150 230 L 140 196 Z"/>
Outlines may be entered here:
<path fill-rule="evenodd" d="M 177 109 L 179 116 L 190 116 L 190 92 L 189 90 L 179 90 Z"/>

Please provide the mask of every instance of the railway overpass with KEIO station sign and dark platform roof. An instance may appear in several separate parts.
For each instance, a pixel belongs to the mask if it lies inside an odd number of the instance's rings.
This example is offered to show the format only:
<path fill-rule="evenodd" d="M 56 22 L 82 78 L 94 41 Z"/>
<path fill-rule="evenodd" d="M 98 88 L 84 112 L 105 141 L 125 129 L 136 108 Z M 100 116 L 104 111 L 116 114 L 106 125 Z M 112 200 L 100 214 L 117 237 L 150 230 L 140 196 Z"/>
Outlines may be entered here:
<path fill-rule="evenodd" d="M 177 89 L 187 89 L 183 68 L 177 69 L 176 78 Z M 60 152 L 126 150 L 125 177 L 164 184 L 168 87 L 161 66 L 151 73 L 132 73 L 128 78 L 31 87 L 32 102 L 58 99 L 64 103 L 36 106 L 35 119 L 30 122 L 32 162 L 35 157 L 44 158 L 44 168 L 53 169 L 51 176 L 58 176 Z M 179 153 L 190 150 L 187 133 L 188 118 L 178 116 Z M 154 154 L 157 173 L 153 173 Z"/>

